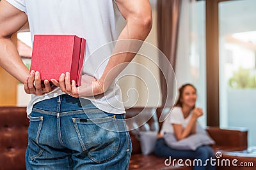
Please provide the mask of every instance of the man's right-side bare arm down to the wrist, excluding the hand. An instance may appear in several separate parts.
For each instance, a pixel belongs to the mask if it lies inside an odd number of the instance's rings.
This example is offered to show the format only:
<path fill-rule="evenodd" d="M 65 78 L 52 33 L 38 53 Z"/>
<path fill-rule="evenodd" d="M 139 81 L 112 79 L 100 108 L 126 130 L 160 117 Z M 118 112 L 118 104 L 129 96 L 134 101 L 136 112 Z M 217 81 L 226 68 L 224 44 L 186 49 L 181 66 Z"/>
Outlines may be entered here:
<path fill-rule="evenodd" d="M 108 89 L 116 76 L 136 55 L 136 53 L 120 52 L 138 52 L 152 27 L 152 11 L 149 0 L 116 0 L 116 4 L 127 22 L 118 40 L 139 39 L 142 41 L 117 41 L 113 55 L 110 57 L 106 69 L 99 80 L 100 84 L 103 85 L 104 91 Z"/>

